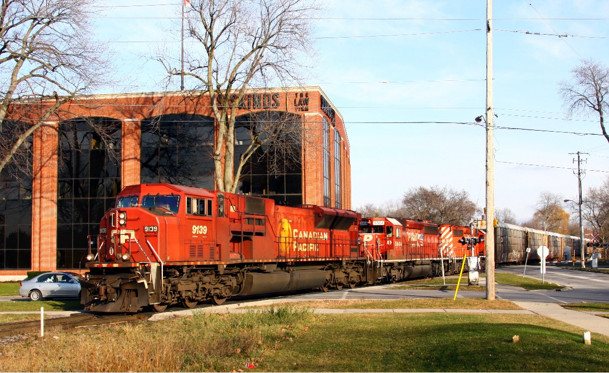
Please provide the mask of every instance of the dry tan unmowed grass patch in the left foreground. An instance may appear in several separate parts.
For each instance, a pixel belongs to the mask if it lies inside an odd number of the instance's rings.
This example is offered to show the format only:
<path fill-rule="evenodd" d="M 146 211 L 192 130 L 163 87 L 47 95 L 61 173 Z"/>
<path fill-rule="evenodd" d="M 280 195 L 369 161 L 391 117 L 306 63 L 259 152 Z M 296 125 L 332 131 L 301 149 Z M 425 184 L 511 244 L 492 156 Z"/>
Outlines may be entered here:
<path fill-rule="evenodd" d="M 230 372 L 257 364 L 300 334 L 312 315 L 278 308 L 246 314 L 197 313 L 0 346 L 8 372 Z M 57 337 L 57 338 L 55 338 Z M 24 358 L 35 357 L 35 358 Z"/>

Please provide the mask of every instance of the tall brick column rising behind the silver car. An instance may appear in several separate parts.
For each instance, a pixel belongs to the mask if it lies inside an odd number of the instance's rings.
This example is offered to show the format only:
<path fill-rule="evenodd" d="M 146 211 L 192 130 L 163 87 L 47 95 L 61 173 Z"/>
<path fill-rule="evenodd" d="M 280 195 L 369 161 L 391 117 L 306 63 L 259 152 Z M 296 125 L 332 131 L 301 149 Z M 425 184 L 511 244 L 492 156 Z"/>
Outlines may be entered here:
<path fill-rule="evenodd" d="M 45 122 L 33 135 L 33 271 L 57 268 L 57 128 L 57 122 Z"/>

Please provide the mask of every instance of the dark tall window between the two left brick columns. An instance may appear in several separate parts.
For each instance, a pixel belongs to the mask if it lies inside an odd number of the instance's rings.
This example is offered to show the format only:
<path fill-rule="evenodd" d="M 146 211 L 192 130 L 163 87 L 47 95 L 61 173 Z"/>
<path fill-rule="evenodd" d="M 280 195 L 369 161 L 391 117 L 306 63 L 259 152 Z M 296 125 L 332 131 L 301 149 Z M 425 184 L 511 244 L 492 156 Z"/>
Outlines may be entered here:
<path fill-rule="evenodd" d="M 83 267 L 87 236 L 99 234 L 99 221 L 121 191 L 120 154 L 121 121 L 86 118 L 60 124 L 57 268 Z"/>

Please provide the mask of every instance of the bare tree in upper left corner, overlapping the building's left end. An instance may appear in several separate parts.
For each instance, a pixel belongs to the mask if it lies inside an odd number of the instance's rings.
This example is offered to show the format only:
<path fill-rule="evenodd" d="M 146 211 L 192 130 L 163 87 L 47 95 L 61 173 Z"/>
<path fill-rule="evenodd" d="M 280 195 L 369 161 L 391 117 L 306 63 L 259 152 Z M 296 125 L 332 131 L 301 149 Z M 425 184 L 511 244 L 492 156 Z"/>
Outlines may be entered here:
<path fill-rule="evenodd" d="M 32 133 L 65 102 L 105 83 L 107 48 L 89 38 L 93 4 L 2 0 L 0 172 L 9 163 L 22 174 L 29 172 L 27 163 L 15 157 L 27 153 Z"/>

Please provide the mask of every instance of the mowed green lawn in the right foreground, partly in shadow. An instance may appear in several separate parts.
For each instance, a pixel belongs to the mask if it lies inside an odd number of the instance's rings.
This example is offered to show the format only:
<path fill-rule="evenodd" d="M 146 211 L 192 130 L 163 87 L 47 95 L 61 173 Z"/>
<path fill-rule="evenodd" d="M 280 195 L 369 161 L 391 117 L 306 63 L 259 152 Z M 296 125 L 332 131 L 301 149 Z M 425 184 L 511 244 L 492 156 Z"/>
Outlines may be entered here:
<path fill-rule="evenodd" d="M 520 342 L 512 343 L 519 335 Z M 607 371 L 609 339 L 541 316 L 333 315 L 259 364 L 272 372 Z M 337 358 L 336 352 L 343 352 Z"/>

